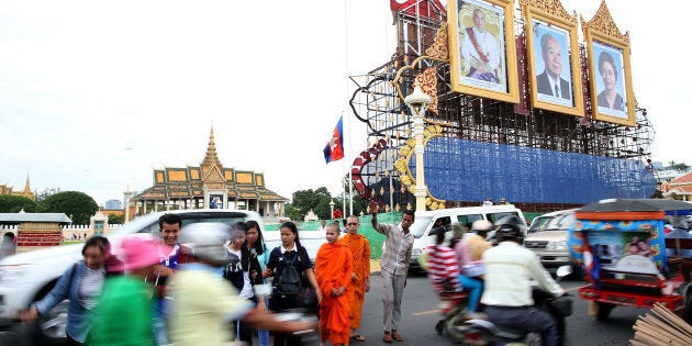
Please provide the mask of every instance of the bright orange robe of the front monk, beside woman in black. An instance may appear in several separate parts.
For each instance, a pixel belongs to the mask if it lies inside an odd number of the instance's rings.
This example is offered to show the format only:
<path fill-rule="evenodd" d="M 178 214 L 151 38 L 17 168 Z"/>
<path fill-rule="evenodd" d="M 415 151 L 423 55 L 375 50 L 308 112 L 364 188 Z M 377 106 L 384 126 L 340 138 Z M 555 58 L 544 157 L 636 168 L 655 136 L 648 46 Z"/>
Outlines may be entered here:
<path fill-rule="evenodd" d="M 323 341 L 332 344 L 348 344 L 350 330 L 348 328 L 348 283 L 354 268 L 354 259 L 345 244 L 323 244 L 315 259 L 315 277 L 322 302 L 320 303 L 320 330 Z M 346 292 L 341 297 L 332 297 L 332 288 L 345 287 Z"/>

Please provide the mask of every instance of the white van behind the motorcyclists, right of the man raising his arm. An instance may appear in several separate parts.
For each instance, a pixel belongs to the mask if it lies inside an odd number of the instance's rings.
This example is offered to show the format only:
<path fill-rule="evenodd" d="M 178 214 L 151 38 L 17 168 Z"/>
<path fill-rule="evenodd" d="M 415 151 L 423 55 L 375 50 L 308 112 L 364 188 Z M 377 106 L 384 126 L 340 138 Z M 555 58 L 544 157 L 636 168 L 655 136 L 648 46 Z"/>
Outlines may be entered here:
<path fill-rule="evenodd" d="M 418 264 L 418 257 L 423 255 L 427 246 L 435 244 L 435 235 L 431 234 L 431 230 L 435 226 L 444 225 L 448 226 L 451 223 L 459 223 L 470 228 L 473 221 L 488 220 L 492 223 L 500 217 L 514 215 L 524 219 L 524 213 L 514 204 L 501 204 L 501 205 L 487 205 L 487 207 L 466 207 L 466 208 L 450 208 L 443 210 L 422 211 L 415 213 L 415 220 L 411 225 L 411 233 L 415 237 L 413 241 L 413 248 L 411 250 L 411 263 L 409 265 L 410 271 L 422 271 Z M 447 227 L 446 238 L 451 238 L 451 227 Z M 524 228 L 526 234 L 526 227 Z"/>

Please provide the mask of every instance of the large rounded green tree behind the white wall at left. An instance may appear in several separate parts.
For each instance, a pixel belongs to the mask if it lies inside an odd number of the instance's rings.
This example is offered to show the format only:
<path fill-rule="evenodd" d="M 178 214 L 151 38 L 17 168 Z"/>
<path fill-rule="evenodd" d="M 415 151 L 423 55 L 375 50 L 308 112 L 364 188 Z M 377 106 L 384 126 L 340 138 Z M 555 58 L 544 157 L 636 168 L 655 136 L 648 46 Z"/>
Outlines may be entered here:
<path fill-rule="evenodd" d="M 65 213 L 72 224 L 89 224 L 89 219 L 99 210 L 97 202 L 88 194 L 79 191 L 57 192 L 38 202 L 40 213 Z"/>

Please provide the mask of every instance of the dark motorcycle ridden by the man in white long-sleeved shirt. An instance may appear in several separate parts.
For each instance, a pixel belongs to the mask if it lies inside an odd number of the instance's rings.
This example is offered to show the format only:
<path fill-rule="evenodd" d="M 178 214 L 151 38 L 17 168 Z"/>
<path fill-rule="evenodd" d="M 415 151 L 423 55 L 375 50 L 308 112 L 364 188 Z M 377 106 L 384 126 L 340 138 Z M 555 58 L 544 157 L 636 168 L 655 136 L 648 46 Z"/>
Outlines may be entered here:
<path fill-rule="evenodd" d="M 571 274 L 569 266 L 562 266 L 557 270 L 558 280 Z M 548 312 L 558 323 L 558 332 L 560 335 L 560 345 L 565 344 L 565 317 L 572 313 L 572 300 L 570 297 L 562 295 L 554 298 L 553 295 L 539 289 L 533 291 L 534 302 L 540 310 Z M 483 345 L 542 345 L 540 334 L 525 333 L 506 325 L 495 325 L 487 320 L 468 320 L 456 326 L 455 341 L 464 345 L 483 346 Z"/>

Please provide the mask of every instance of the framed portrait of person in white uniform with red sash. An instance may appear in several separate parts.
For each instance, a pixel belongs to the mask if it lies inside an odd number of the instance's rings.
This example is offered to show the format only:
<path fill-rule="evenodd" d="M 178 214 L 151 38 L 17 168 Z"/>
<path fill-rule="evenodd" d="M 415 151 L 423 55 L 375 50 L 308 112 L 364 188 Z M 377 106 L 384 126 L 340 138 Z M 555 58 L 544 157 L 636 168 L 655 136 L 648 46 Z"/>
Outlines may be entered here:
<path fill-rule="evenodd" d="M 451 89 L 518 102 L 514 1 L 447 2 Z"/>

